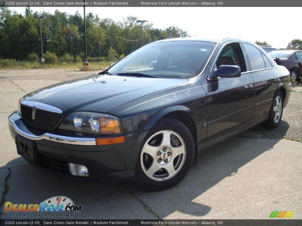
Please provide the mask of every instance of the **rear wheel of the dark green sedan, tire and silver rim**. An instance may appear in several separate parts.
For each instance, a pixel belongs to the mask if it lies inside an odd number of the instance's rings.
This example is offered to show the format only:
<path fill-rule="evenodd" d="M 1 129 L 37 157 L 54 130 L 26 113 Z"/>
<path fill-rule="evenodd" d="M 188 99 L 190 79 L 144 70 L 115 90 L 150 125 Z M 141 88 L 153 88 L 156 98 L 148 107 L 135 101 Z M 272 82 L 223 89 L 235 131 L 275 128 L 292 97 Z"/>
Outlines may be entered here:
<path fill-rule="evenodd" d="M 267 120 L 267 125 L 272 129 L 277 128 L 281 122 L 283 113 L 283 95 L 278 91 L 274 98 Z"/>

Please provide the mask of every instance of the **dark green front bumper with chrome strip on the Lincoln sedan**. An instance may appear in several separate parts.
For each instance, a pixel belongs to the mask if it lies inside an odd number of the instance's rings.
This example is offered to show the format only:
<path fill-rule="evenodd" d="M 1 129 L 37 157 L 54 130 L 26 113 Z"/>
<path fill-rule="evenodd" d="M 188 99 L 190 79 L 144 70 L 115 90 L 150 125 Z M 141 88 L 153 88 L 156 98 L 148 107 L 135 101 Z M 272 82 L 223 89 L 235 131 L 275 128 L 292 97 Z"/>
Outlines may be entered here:
<path fill-rule="evenodd" d="M 137 158 L 148 132 L 122 134 L 125 143 L 96 145 L 95 135 L 83 137 L 83 134 L 75 132 L 52 130 L 52 133 L 45 133 L 36 130 L 28 126 L 17 112 L 8 117 L 8 124 L 15 141 L 16 136 L 21 136 L 35 142 L 38 160 L 25 158 L 28 162 L 48 172 L 85 180 L 134 178 Z M 70 175 L 68 163 L 85 165 L 89 177 Z"/>

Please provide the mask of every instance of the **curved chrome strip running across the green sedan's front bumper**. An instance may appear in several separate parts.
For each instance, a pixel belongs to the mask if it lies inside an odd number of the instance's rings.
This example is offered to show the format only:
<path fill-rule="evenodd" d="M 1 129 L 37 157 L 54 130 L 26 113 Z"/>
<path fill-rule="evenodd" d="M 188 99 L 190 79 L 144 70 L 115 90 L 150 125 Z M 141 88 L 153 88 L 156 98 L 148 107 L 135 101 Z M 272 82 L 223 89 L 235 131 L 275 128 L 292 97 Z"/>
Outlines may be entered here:
<path fill-rule="evenodd" d="M 49 140 L 53 142 L 76 144 L 76 145 L 96 145 L 95 138 L 65 137 L 65 136 L 59 136 L 51 133 L 44 133 L 41 136 L 36 136 L 33 134 L 26 133 L 16 125 L 16 123 L 10 116 L 8 117 L 8 123 L 14 128 L 14 131 L 17 134 L 30 140 Z"/>

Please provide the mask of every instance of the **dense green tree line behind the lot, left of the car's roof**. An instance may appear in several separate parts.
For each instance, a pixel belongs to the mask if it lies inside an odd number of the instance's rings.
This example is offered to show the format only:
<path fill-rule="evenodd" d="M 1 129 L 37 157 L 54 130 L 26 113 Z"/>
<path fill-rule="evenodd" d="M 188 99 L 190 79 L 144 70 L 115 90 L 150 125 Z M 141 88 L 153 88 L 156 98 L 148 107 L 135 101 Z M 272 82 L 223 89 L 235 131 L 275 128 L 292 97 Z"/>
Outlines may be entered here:
<path fill-rule="evenodd" d="M 48 59 L 65 60 L 84 58 L 84 23 L 79 12 L 70 15 L 56 10 L 32 12 L 26 8 L 24 15 L 0 8 L 0 58 L 33 60 L 41 57 L 40 22 L 43 50 Z M 87 56 L 90 59 L 120 58 L 142 45 L 141 24 L 138 18 L 129 16 L 124 21 L 100 19 L 98 15 L 86 15 Z M 173 37 L 187 37 L 188 33 L 177 26 L 154 28 L 143 24 L 144 44 Z M 137 40 L 137 41 L 129 41 Z M 89 58 L 88 58 L 89 59 Z M 112 60 L 112 59 L 110 59 Z M 114 60 L 114 59 L 113 59 Z"/>

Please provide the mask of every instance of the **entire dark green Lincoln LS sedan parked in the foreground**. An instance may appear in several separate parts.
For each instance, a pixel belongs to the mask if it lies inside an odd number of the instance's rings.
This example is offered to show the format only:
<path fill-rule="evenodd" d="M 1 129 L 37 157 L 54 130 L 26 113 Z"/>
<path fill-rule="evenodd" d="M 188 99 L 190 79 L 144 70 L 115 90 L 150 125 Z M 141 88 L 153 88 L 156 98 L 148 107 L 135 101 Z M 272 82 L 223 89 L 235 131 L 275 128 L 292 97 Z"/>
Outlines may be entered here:
<path fill-rule="evenodd" d="M 161 40 L 25 95 L 8 122 L 18 153 L 39 168 L 162 190 L 199 149 L 260 122 L 277 127 L 290 89 L 288 70 L 249 42 Z"/>

